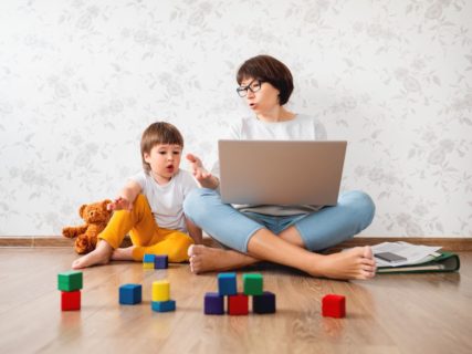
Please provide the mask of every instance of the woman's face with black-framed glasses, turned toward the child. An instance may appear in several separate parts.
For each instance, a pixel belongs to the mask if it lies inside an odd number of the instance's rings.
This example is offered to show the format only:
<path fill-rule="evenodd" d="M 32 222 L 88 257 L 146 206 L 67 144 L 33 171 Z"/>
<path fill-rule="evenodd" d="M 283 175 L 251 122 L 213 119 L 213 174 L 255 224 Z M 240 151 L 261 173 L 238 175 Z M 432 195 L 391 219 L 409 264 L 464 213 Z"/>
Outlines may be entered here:
<path fill-rule="evenodd" d="M 241 82 L 240 87 L 245 88 L 245 102 L 248 103 L 249 108 L 252 110 L 255 114 L 269 112 L 280 106 L 280 92 L 269 82 L 260 82 L 253 77 L 245 77 Z"/>

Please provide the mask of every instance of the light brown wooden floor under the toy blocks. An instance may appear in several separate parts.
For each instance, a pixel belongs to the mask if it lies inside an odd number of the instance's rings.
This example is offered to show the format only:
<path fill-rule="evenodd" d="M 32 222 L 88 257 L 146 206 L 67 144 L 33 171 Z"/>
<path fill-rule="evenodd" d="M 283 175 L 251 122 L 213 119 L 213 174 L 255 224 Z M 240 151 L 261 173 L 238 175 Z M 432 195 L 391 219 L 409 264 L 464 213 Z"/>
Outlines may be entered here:
<path fill-rule="evenodd" d="M 86 269 L 82 310 L 61 312 L 56 274 L 74 258 L 70 249 L 0 249 L 0 353 L 472 353 L 472 253 L 461 253 L 459 273 L 371 281 L 252 268 L 275 292 L 277 312 L 248 316 L 203 314 L 214 273 L 130 262 Z M 166 278 L 177 311 L 156 313 L 151 282 Z M 129 282 L 143 284 L 144 302 L 122 306 L 118 287 Z M 346 295 L 346 319 L 321 315 L 327 293 Z"/>

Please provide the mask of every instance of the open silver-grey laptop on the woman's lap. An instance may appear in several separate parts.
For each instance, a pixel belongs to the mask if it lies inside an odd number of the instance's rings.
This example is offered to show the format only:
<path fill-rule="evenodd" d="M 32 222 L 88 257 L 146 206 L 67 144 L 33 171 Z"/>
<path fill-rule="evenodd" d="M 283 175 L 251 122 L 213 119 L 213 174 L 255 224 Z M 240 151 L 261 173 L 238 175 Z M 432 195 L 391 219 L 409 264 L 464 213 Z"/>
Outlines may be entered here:
<path fill-rule="evenodd" d="M 347 142 L 219 140 L 225 204 L 335 206 Z"/>

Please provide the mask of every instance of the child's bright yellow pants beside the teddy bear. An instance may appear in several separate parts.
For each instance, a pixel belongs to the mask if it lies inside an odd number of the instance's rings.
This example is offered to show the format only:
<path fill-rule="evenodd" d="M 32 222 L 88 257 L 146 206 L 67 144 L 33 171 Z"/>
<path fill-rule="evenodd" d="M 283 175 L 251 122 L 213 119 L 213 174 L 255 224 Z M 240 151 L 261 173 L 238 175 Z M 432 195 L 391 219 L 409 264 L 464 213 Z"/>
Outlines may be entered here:
<path fill-rule="evenodd" d="M 128 232 L 135 261 L 143 261 L 144 254 L 150 253 L 167 254 L 169 262 L 183 262 L 193 243 L 192 238 L 181 231 L 159 228 L 144 195 L 137 196 L 130 211 L 115 211 L 98 238 L 116 249 Z"/>

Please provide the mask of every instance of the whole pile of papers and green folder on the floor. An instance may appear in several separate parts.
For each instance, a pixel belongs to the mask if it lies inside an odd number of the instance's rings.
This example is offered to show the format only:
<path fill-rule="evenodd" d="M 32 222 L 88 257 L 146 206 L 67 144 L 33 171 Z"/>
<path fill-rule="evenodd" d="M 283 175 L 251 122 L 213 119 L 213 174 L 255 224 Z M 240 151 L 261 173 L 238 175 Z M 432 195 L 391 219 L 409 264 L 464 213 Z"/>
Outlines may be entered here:
<path fill-rule="evenodd" d="M 371 247 L 378 273 L 445 272 L 460 268 L 458 254 L 440 251 L 441 247 L 382 242 Z"/>

